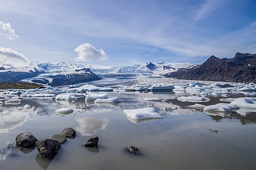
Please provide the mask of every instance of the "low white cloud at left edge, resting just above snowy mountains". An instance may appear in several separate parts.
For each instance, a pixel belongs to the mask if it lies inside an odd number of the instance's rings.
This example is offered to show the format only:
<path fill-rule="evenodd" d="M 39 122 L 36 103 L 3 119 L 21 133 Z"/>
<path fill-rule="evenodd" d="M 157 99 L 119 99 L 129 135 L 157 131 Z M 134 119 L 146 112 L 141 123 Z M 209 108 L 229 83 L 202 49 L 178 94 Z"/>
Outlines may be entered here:
<path fill-rule="evenodd" d="M 10 48 L 0 47 L 0 63 L 2 64 L 16 64 L 28 61 L 25 55 L 18 53 Z"/>

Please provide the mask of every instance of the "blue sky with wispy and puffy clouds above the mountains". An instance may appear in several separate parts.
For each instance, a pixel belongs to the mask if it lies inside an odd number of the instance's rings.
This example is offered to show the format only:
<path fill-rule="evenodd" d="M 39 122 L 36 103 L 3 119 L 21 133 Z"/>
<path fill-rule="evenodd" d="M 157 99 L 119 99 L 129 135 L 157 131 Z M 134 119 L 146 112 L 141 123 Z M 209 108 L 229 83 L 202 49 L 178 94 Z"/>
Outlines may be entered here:
<path fill-rule="evenodd" d="M 256 54 L 256 1 L 0 0 L 0 66 L 202 64 Z"/>

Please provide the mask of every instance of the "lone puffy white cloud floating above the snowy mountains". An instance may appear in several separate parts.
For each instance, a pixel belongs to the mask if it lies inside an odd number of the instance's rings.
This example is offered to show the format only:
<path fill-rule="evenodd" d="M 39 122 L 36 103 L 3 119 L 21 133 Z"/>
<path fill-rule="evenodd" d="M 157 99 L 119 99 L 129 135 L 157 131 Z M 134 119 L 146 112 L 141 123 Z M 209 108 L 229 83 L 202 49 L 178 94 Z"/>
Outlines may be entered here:
<path fill-rule="evenodd" d="M 108 58 L 103 50 L 97 50 L 88 43 L 79 45 L 74 51 L 78 52 L 78 57 L 75 58 L 75 61 L 104 61 Z"/>

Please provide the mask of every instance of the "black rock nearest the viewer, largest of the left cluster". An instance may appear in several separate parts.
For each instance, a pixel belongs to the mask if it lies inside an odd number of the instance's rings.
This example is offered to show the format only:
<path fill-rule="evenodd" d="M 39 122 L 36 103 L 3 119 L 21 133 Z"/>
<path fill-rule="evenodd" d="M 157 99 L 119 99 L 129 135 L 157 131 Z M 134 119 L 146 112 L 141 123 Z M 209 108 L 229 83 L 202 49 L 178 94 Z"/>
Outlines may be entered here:
<path fill-rule="evenodd" d="M 51 139 L 38 140 L 36 142 L 36 149 L 38 149 L 39 155 L 44 159 L 50 159 L 55 154 L 58 154 L 60 147 L 58 141 Z"/>

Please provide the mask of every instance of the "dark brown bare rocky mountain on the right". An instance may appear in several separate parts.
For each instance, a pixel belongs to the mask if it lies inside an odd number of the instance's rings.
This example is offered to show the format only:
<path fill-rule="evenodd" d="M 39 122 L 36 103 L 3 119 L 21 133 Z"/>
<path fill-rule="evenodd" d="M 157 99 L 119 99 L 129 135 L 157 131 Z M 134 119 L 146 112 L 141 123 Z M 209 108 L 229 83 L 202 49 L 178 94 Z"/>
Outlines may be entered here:
<path fill-rule="evenodd" d="M 199 66 L 165 76 L 198 81 L 256 82 L 256 54 L 237 52 L 229 59 L 212 55 Z"/>

